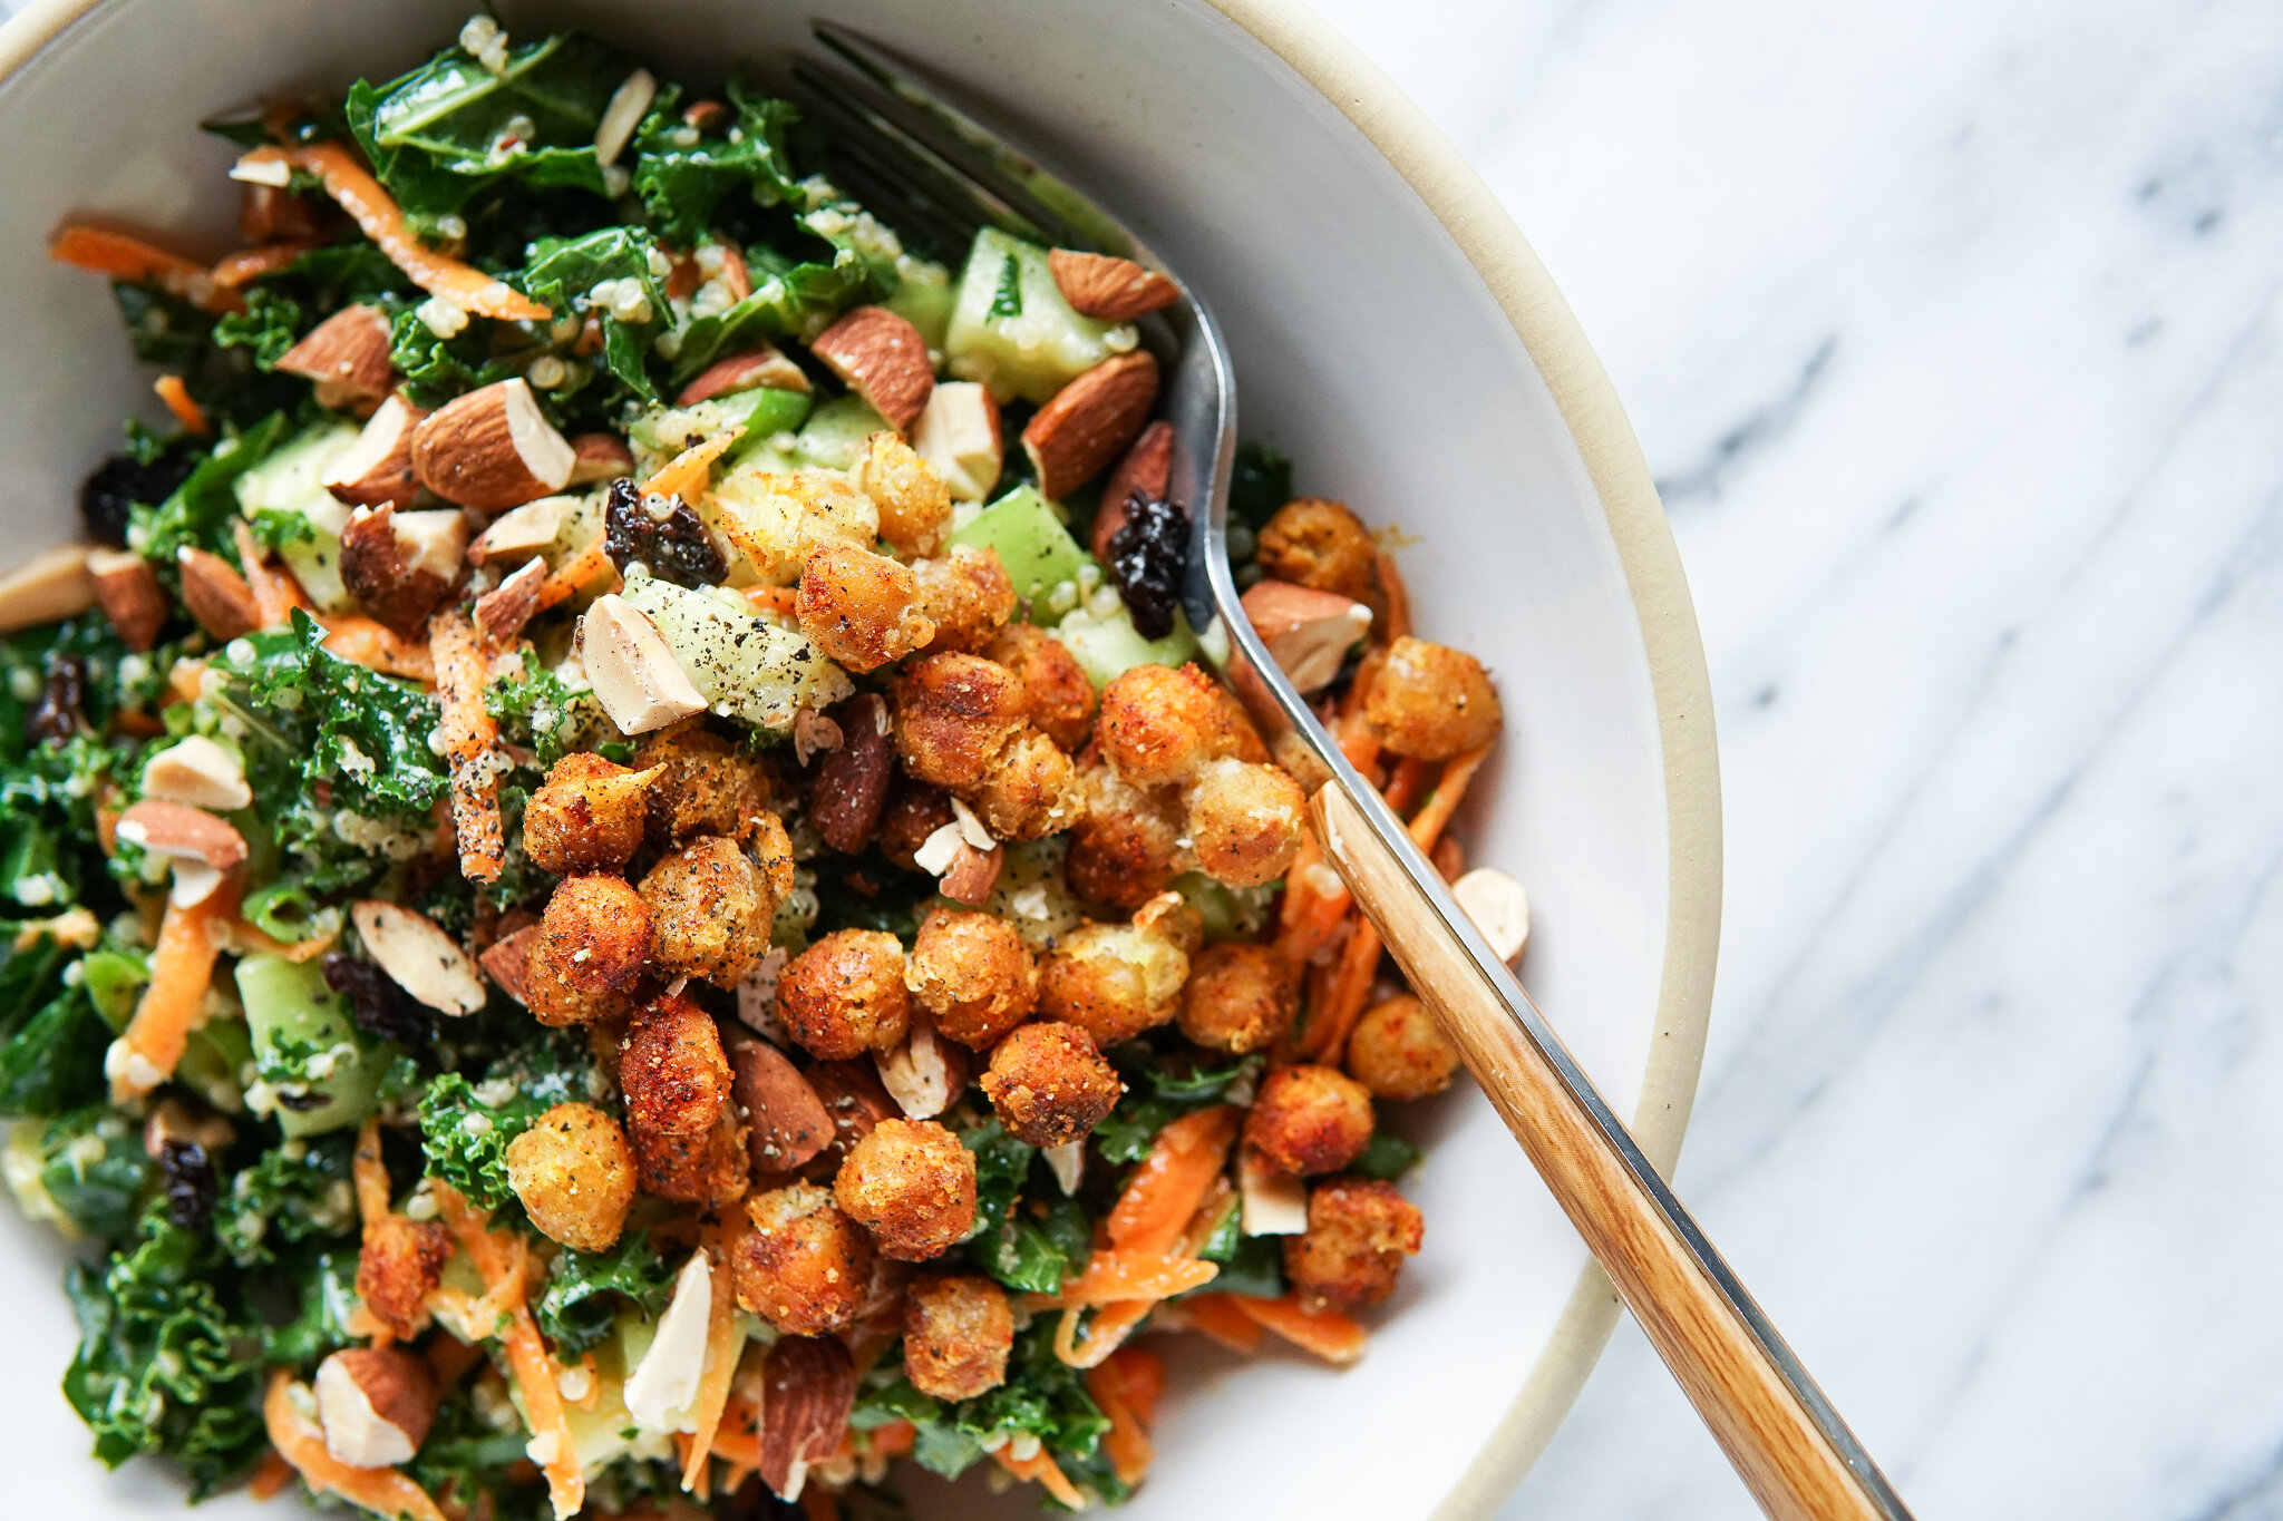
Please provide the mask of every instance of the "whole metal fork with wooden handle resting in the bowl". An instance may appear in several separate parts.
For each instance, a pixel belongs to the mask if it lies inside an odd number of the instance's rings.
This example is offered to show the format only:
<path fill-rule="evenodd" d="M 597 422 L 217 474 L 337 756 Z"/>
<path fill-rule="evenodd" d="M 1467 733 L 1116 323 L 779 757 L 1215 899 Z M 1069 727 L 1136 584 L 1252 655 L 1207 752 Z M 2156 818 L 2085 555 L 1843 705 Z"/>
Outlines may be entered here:
<path fill-rule="evenodd" d="M 1203 299 L 1114 217 L 984 128 L 973 107 L 922 87 L 913 66 L 831 23 L 815 23 L 815 36 L 831 59 L 799 59 L 792 75 L 833 128 L 838 182 L 890 226 L 945 251 L 995 226 L 1132 258 L 1180 285 L 1183 301 L 1148 322 L 1144 342 L 1169 376 L 1169 495 L 1192 520 L 1183 607 L 1205 657 L 1310 794 L 1326 860 L 1760 1510 L 1776 1521 L 1909 1521 L 1886 1475 L 1253 632 L 1228 568 L 1235 372 Z"/>

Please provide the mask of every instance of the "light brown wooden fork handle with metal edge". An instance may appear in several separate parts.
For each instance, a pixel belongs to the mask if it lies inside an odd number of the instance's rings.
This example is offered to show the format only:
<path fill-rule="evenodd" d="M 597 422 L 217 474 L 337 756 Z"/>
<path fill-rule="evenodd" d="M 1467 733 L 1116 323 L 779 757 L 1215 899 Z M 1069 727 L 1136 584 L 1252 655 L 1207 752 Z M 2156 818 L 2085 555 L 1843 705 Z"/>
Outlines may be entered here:
<path fill-rule="evenodd" d="M 1310 803 L 1347 878 L 1468 1072 L 1776 1521 L 1909 1521 L 1735 1275 L 1436 882 L 1336 784 Z M 1413 857 L 1415 851 L 1409 851 Z M 1459 924 L 1452 924 L 1457 919 Z M 1473 942 L 1473 944 L 1470 944 Z"/>

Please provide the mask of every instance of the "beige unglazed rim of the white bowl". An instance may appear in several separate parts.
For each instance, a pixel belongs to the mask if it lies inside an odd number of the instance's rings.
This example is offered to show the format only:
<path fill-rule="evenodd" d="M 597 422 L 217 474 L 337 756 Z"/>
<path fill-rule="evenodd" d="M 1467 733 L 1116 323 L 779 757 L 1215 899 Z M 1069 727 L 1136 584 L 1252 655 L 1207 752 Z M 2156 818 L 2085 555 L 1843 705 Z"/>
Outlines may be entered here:
<path fill-rule="evenodd" d="M 1680 1156 L 1712 1012 L 1721 924 L 1719 750 L 1712 680 L 1680 547 L 1632 422 L 1546 265 L 1473 164 L 1363 50 L 1306 0 L 1205 0 L 1338 109 L 1404 178 L 1530 353 L 1578 445 L 1616 543 L 1648 659 L 1664 753 L 1667 924 L 1657 1031 L 1632 1133 L 1667 1177 Z M 30 0 L 0 25 L 0 84 L 103 0 Z M 1434 1510 L 1479 1521 L 1507 1500 L 1575 1405 L 1616 1327 L 1607 1275 L 1587 1263 L 1546 1350 L 1482 1450 Z"/>

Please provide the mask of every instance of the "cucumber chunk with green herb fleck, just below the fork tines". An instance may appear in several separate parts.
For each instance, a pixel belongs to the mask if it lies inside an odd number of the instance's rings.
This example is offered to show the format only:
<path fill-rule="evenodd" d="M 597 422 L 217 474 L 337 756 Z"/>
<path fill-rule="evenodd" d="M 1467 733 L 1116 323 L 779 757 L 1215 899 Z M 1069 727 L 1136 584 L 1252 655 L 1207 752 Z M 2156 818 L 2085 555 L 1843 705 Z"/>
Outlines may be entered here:
<path fill-rule="evenodd" d="M 1132 347 L 1132 326 L 1071 310 L 1046 265 L 1046 249 L 998 228 L 975 235 L 952 326 L 943 335 L 954 376 L 982 381 L 1000 401 L 1052 401 L 1057 390 Z"/>

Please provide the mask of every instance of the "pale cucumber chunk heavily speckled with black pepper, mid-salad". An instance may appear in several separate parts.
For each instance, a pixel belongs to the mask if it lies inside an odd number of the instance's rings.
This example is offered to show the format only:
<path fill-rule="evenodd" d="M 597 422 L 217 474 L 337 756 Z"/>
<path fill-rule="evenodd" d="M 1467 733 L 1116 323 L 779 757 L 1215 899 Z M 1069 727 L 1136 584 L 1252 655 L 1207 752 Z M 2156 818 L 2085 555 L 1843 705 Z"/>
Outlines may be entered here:
<path fill-rule="evenodd" d="M 799 629 L 742 611 L 737 593 L 637 577 L 621 595 L 658 625 L 717 714 L 783 732 L 801 707 L 831 707 L 856 691 Z"/>

